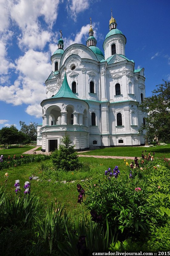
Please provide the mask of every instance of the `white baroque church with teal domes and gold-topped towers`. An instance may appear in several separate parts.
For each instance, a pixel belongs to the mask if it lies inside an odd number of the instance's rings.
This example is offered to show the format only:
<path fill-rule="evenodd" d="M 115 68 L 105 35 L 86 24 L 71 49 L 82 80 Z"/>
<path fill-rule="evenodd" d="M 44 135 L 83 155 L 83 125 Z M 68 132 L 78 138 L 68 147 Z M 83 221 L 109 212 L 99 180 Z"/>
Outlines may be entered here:
<path fill-rule="evenodd" d="M 126 37 L 111 16 L 103 52 L 96 46 L 92 26 L 86 45 L 73 44 L 51 56 L 52 72 L 45 81 L 47 98 L 41 102 L 43 122 L 37 145 L 50 152 L 65 132 L 77 150 L 137 146 L 145 143 L 138 128 L 145 123 L 138 104 L 145 97 L 144 68 L 134 69 L 125 57 Z"/>

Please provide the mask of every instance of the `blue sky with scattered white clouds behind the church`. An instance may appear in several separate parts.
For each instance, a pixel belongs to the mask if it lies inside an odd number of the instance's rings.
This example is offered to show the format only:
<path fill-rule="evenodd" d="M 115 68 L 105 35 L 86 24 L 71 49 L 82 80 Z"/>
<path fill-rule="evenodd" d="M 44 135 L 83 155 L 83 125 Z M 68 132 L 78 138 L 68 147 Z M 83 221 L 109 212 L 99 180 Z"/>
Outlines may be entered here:
<path fill-rule="evenodd" d="M 170 1 L 168 0 L 0 0 L 0 129 L 19 121 L 41 123 L 40 102 L 50 57 L 62 29 L 64 49 L 86 45 L 90 17 L 97 47 L 109 20 L 126 36 L 125 55 L 144 67 L 146 96 L 162 79 L 170 80 Z M 104 52 L 104 51 L 103 51 Z"/>

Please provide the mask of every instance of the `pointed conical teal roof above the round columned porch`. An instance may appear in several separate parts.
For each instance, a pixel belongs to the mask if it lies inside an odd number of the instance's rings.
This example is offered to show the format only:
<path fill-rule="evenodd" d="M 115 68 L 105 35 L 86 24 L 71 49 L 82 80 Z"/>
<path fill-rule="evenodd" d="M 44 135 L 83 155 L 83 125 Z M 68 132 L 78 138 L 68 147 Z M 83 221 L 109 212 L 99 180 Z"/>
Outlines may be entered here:
<path fill-rule="evenodd" d="M 79 100 L 79 98 L 77 98 L 75 96 L 75 94 L 71 91 L 71 89 L 68 85 L 67 78 L 66 78 L 66 72 L 65 72 L 64 80 L 62 82 L 62 86 L 61 86 L 60 90 L 56 93 L 56 95 L 51 97 L 51 99 L 56 99 L 56 98 L 74 98 L 74 99 Z"/>

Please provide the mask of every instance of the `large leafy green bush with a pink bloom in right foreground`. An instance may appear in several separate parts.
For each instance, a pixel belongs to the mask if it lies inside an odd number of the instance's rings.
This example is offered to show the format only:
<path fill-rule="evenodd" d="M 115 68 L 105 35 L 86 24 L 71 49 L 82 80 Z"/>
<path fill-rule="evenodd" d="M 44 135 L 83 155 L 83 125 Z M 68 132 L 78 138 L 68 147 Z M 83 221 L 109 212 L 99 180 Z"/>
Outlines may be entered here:
<path fill-rule="evenodd" d="M 91 211 L 92 220 L 109 224 L 110 237 L 143 241 L 159 228 L 168 225 L 170 214 L 170 171 L 160 160 L 142 158 L 128 164 L 128 171 L 115 167 L 105 171 L 105 179 L 86 189 L 84 204 Z M 154 164 L 156 165 L 154 165 Z M 140 167 L 142 165 L 142 167 Z"/>

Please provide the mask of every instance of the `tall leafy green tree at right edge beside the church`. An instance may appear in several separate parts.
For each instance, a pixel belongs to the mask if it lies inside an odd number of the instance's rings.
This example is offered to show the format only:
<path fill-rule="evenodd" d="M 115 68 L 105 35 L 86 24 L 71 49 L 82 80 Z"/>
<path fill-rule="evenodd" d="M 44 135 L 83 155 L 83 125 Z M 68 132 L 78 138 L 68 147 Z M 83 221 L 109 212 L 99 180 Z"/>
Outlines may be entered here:
<path fill-rule="evenodd" d="M 148 113 L 145 124 L 139 132 L 146 131 L 146 138 L 151 142 L 157 138 L 159 141 L 170 141 L 170 81 L 156 85 L 152 96 L 143 100 L 139 108 Z"/>

